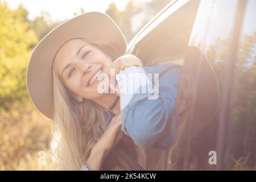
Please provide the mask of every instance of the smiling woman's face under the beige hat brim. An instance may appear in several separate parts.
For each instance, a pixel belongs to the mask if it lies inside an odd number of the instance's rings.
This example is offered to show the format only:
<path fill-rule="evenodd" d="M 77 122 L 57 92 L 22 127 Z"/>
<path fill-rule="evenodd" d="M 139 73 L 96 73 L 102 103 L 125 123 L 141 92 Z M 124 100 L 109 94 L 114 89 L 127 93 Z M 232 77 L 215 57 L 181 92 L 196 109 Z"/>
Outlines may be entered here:
<path fill-rule="evenodd" d="M 81 39 L 72 39 L 61 46 L 54 63 L 61 81 L 77 101 L 102 96 L 97 92 L 97 85 L 101 80 L 94 80 L 94 76 L 111 64 L 112 59 L 100 49 Z"/>

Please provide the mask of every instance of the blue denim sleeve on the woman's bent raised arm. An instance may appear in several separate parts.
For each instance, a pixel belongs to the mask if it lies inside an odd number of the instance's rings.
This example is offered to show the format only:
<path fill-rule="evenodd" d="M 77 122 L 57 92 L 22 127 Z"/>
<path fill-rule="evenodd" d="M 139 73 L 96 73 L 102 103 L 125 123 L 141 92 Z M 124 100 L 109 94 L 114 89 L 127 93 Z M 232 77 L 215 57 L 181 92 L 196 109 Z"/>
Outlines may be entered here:
<path fill-rule="evenodd" d="M 121 110 L 122 131 L 142 148 L 168 147 L 176 137 L 176 121 L 172 119 L 181 67 L 164 72 L 159 77 L 158 98 L 152 93 L 135 93 Z M 154 74 L 152 75 L 154 77 Z M 155 79 L 152 79 L 154 84 Z M 142 85 L 141 85 L 142 86 Z M 140 88 L 142 89 L 142 88 Z"/>

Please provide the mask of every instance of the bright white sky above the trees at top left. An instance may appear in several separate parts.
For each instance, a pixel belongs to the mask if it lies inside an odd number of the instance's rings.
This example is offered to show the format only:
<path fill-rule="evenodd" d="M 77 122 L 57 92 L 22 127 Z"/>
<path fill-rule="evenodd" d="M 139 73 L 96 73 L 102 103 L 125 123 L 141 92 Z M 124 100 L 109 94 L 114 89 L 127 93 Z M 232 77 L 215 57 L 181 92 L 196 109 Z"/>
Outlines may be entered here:
<path fill-rule="evenodd" d="M 148 0 L 135 0 L 134 2 Z M 102 13 L 114 2 L 119 10 L 125 9 L 129 0 L 7 0 L 10 9 L 16 9 L 22 3 L 28 10 L 28 19 L 32 20 L 41 14 L 42 10 L 51 15 L 52 20 L 65 20 L 72 18 L 73 13 L 79 12 L 82 7 L 85 11 L 100 11 Z"/>

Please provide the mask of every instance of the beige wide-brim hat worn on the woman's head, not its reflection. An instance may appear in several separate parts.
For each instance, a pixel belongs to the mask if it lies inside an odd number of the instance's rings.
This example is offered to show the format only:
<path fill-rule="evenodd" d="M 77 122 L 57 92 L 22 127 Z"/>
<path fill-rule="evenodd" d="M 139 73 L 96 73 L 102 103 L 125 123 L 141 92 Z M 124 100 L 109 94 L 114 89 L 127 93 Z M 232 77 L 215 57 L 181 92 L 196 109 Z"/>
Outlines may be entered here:
<path fill-rule="evenodd" d="M 27 68 L 27 90 L 43 115 L 53 119 L 52 63 L 59 48 L 68 40 L 100 40 L 117 49 L 121 56 L 127 43 L 117 24 L 108 15 L 89 12 L 69 19 L 49 32 L 35 47 Z"/>

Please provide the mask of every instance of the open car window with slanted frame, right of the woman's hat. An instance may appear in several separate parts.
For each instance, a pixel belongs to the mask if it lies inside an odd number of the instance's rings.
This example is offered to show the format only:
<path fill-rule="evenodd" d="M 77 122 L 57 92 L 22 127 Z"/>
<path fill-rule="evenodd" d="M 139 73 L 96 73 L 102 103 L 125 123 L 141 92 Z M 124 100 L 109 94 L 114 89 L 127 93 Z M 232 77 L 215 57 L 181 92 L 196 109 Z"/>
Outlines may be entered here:
<path fill-rule="evenodd" d="M 129 52 L 139 57 L 145 66 L 182 59 L 199 2 L 171 1 L 134 36 L 128 47 Z"/>

